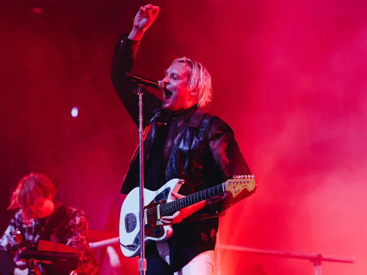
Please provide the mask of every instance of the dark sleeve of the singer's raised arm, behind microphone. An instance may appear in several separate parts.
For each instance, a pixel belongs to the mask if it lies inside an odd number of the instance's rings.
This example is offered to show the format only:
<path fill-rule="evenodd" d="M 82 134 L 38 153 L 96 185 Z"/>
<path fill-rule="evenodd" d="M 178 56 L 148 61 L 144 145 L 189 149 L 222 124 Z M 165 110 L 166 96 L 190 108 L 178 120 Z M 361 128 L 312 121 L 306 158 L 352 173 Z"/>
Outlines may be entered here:
<path fill-rule="evenodd" d="M 121 36 L 115 47 L 113 55 L 110 79 L 117 95 L 124 104 L 134 123 L 138 126 L 138 94 L 137 84 L 124 76 L 126 72 L 132 72 L 140 41 L 127 38 L 127 34 Z M 145 127 L 153 116 L 154 110 L 162 105 L 162 100 L 150 94 L 143 88 L 143 127 Z"/>

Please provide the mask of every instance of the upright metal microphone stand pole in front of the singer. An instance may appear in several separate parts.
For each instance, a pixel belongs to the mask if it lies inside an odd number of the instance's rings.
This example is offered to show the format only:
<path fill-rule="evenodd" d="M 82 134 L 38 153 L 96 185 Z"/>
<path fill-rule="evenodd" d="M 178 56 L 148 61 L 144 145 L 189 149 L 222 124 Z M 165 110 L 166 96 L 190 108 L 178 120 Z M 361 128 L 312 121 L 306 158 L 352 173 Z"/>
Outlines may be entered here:
<path fill-rule="evenodd" d="M 145 234 L 144 234 L 144 152 L 143 152 L 143 85 L 138 83 L 139 95 L 139 197 L 140 197 L 140 257 L 138 261 L 139 275 L 145 275 Z"/>

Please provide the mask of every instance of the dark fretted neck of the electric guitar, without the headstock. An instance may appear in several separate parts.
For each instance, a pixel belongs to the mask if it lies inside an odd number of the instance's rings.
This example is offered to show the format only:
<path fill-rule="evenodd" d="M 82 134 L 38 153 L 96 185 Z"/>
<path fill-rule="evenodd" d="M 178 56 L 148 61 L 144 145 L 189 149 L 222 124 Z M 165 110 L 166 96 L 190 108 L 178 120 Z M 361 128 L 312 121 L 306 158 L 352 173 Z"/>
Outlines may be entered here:
<path fill-rule="evenodd" d="M 162 205 L 162 214 L 163 216 L 168 216 L 177 212 L 178 210 L 190 206 L 194 203 L 203 201 L 204 199 L 211 198 L 215 195 L 223 193 L 224 190 L 224 183 L 221 183 L 217 186 L 210 187 L 203 191 L 196 192 L 194 194 L 188 195 L 181 199 L 176 199 L 172 202 L 168 202 Z"/>

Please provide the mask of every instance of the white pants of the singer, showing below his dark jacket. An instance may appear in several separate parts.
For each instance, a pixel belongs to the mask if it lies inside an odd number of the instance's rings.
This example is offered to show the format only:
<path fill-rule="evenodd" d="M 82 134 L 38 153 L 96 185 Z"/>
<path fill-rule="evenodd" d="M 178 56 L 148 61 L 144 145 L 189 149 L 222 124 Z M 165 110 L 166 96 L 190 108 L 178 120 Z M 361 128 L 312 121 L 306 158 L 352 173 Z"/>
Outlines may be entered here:
<path fill-rule="evenodd" d="M 168 264 L 170 249 L 167 242 L 156 242 L 158 252 Z M 200 253 L 174 275 L 212 275 L 214 270 L 214 251 Z"/>

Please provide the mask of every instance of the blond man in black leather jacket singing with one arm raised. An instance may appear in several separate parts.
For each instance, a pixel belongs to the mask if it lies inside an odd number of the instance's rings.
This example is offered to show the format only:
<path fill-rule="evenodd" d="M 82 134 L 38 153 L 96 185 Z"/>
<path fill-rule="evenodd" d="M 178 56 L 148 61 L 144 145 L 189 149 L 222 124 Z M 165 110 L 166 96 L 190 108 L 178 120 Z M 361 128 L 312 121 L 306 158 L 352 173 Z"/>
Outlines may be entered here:
<path fill-rule="evenodd" d="M 158 12 L 159 7 L 151 4 L 139 9 L 132 31 L 117 43 L 112 62 L 112 84 L 137 125 L 137 84 L 124 74 L 132 71 L 140 40 Z M 182 57 L 165 74 L 163 100 L 143 89 L 144 187 L 158 190 L 171 179 L 184 179 L 179 194 L 172 193 L 182 198 L 233 175 L 251 175 L 232 129 L 203 109 L 212 96 L 207 70 Z M 139 158 L 135 154 L 121 193 L 128 194 L 137 186 Z M 233 198 L 225 191 L 162 217 L 163 224 L 172 225 L 173 235 L 167 242 L 150 242 L 145 247 L 146 274 L 212 274 L 218 217 L 252 192 L 244 190 Z"/>

